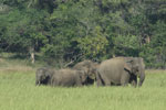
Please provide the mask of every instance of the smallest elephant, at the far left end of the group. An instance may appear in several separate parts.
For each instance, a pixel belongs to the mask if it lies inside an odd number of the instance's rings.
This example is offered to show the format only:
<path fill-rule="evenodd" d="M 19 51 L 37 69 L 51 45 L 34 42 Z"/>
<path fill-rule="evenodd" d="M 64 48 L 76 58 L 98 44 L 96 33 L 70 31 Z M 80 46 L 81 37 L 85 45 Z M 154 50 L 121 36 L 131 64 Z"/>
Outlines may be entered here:
<path fill-rule="evenodd" d="M 50 80 L 53 74 L 54 69 L 48 67 L 38 68 L 35 72 L 35 85 L 50 85 Z"/>

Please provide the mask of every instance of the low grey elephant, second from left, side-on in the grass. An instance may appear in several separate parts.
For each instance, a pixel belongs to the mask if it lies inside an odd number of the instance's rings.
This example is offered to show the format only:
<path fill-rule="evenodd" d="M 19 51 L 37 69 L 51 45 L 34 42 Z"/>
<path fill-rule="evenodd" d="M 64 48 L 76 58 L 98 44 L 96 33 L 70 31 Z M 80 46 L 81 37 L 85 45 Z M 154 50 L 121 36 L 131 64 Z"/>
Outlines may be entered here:
<path fill-rule="evenodd" d="M 86 72 L 70 68 L 56 70 L 51 78 L 51 86 L 75 87 L 82 86 L 87 78 Z"/>

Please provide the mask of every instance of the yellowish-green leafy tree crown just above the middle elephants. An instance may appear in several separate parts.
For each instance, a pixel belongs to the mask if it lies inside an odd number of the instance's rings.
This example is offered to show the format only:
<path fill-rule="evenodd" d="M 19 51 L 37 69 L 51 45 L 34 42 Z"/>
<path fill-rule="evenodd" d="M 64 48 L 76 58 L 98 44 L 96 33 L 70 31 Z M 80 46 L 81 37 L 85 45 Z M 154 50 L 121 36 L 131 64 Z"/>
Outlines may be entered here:
<path fill-rule="evenodd" d="M 101 33 L 100 26 L 96 26 L 94 33 L 95 36 L 87 35 L 83 38 L 79 38 L 77 45 L 86 58 L 96 58 L 96 61 L 98 61 L 106 54 L 108 41 L 105 35 Z"/>

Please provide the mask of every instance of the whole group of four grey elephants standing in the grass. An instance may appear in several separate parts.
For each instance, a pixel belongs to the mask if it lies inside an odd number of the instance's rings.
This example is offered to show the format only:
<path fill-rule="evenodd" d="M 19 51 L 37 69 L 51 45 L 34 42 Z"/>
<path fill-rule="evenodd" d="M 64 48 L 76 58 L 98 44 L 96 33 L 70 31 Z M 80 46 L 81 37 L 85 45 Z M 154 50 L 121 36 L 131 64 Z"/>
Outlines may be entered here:
<path fill-rule="evenodd" d="M 137 77 L 139 81 L 137 84 Z M 114 57 L 101 64 L 83 61 L 72 68 L 52 69 L 41 67 L 35 72 L 35 85 L 53 87 L 127 86 L 141 87 L 145 79 L 145 64 L 142 57 Z"/>

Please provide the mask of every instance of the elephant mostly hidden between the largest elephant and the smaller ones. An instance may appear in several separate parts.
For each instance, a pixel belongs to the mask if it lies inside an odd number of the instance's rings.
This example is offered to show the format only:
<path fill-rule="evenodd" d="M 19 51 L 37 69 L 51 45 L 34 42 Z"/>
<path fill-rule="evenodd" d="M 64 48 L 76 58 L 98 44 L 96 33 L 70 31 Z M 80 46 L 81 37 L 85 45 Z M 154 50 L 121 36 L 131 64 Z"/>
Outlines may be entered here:
<path fill-rule="evenodd" d="M 98 64 L 92 61 L 85 59 L 83 62 L 77 63 L 73 69 L 76 70 L 86 70 L 87 78 L 84 85 L 92 85 L 96 79 L 96 72 L 97 72 Z"/>

